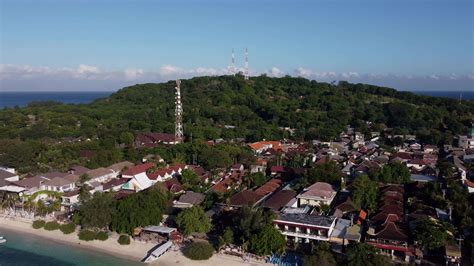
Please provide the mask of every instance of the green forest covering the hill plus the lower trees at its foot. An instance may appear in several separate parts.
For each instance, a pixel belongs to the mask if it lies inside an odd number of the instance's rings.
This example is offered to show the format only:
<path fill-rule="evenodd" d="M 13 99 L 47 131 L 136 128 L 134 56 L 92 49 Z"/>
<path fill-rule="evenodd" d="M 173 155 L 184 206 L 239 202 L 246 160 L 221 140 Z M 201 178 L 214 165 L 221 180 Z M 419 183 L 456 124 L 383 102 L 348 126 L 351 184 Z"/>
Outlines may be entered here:
<path fill-rule="evenodd" d="M 207 169 L 228 167 L 239 157 L 228 149 L 232 145 L 194 148 L 219 137 L 288 138 L 281 126 L 295 128 L 294 139 L 330 140 L 350 124 L 364 134 L 387 126 L 394 133 L 414 133 L 423 143 L 450 144 L 455 134 L 466 131 L 474 113 L 472 101 L 304 78 L 263 75 L 247 83 L 240 76 L 198 77 L 183 80 L 182 86 L 185 137 L 190 141 L 192 135 L 193 144 L 138 152 L 131 148 L 137 132 L 174 130 L 174 83 L 139 84 L 90 104 L 45 102 L 0 110 L 0 164 L 21 173 L 47 171 L 48 166 L 64 170 L 72 164 L 95 168 L 135 161 L 143 152 L 187 163 L 195 154 Z M 364 121 L 372 122 L 372 128 Z M 91 141 L 68 141 L 73 138 Z M 83 150 L 94 155 L 80 158 Z M 291 163 L 299 165 L 300 160 Z"/>

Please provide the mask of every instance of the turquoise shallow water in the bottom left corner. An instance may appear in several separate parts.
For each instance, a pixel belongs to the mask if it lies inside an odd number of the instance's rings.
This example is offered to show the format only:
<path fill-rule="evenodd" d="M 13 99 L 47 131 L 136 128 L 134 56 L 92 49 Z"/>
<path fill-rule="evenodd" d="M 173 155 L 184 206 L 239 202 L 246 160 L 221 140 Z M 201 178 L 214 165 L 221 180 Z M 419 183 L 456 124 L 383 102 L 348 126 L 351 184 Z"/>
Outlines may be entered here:
<path fill-rule="evenodd" d="M 139 262 L 127 261 L 107 254 L 67 246 L 34 235 L 1 230 L 6 243 L 0 244 L 0 265 L 114 265 L 138 266 Z"/>

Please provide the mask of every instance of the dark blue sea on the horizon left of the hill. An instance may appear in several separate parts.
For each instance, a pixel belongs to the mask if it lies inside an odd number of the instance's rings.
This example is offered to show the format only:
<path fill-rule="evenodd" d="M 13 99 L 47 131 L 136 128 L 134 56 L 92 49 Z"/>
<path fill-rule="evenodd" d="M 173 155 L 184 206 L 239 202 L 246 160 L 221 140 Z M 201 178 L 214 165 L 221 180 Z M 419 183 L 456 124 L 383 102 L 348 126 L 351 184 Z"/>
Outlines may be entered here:
<path fill-rule="evenodd" d="M 10 92 L 0 91 L 0 109 L 4 107 L 24 107 L 33 101 L 57 101 L 69 103 L 89 103 L 98 98 L 107 97 L 110 91 L 93 92 Z"/>

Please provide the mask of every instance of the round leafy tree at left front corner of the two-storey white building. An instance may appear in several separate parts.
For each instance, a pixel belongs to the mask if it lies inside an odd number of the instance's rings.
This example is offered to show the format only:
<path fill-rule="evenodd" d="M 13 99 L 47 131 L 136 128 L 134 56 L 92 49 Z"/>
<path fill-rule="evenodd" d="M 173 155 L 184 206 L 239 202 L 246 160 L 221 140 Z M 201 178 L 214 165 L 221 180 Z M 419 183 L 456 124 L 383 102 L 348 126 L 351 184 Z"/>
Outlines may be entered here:
<path fill-rule="evenodd" d="M 249 248 L 257 255 L 281 254 L 285 251 L 285 237 L 274 226 L 265 225 L 250 238 Z"/>

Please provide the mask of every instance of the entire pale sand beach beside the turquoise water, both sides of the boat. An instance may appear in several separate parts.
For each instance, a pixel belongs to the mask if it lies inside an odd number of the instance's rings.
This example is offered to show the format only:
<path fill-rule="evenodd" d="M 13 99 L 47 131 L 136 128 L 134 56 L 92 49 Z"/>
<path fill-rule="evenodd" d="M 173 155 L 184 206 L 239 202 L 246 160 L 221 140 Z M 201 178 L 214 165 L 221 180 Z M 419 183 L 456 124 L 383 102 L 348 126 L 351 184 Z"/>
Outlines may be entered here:
<path fill-rule="evenodd" d="M 110 237 L 106 241 L 82 241 L 77 234 L 65 235 L 59 230 L 46 231 L 44 229 L 34 229 L 31 221 L 21 218 L 0 218 L 0 229 L 18 231 L 24 234 L 47 238 L 49 240 L 63 243 L 71 247 L 85 248 L 96 252 L 109 254 L 132 261 L 141 261 L 155 244 L 132 241 L 130 245 L 122 246 L 117 243 L 116 237 Z M 170 250 L 151 265 L 171 266 L 171 265 L 211 265 L 211 266 L 237 266 L 237 265 L 270 265 L 255 260 L 245 262 L 242 258 L 224 254 L 214 254 L 209 260 L 193 261 L 186 258 L 179 250 Z"/>

